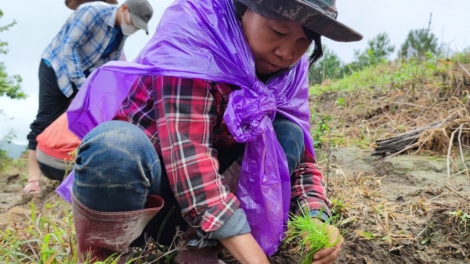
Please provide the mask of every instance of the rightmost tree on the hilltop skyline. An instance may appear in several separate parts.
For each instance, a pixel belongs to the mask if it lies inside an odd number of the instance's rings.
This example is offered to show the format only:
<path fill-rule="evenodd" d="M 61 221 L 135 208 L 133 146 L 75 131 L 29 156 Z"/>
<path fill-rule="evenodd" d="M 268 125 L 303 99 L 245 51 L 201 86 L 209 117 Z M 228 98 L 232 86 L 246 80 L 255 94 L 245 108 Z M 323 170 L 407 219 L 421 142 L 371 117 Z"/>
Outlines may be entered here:
<path fill-rule="evenodd" d="M 423 59 L 426 54 L 439 55 L 441 52 L 439 40 L 429 29 L 411 30 L 401 45 L 398 55 L 402 58 Z"/>

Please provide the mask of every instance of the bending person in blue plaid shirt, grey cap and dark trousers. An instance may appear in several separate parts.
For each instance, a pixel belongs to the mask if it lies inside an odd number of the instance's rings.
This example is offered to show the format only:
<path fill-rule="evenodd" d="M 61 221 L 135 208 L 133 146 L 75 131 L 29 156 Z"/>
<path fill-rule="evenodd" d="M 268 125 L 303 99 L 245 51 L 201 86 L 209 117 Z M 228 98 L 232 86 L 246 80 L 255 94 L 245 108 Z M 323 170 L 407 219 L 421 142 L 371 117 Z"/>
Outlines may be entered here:
<path fill-rule="evenodd" d="M 128 36 L 148 34 L 153 9 L 147 0 L 66 0 L 76 11 L 46 48 L 39 66 L 39 110 L 28 134 L 29 164 L 25 193 L 40 193 L 36 138 L 65 112 L 86 77 L 108 61 L 118 60 Z M 111 4 L 110 4 L 111 3 Z"/>

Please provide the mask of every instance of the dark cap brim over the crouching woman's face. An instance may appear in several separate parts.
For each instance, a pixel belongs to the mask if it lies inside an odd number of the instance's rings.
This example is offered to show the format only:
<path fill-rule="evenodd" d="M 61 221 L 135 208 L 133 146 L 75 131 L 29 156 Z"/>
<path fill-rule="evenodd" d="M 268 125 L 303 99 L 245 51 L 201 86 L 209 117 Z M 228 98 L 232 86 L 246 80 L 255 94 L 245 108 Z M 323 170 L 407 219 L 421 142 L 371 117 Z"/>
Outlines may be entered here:
<path fill-rule="evenodd" d="M 302 26 L 338 42 L 353 42 L 363 39 L 354 29 L 330 17 L 322 10 L 299 0 L 238 0 L 254 10 L 268 11 L 271 17 L 282 17 L 299 22 Z M 263 14 L 262 14 L 263 15 Z M 269 16 L 269 14 L 268 14 Z"/>

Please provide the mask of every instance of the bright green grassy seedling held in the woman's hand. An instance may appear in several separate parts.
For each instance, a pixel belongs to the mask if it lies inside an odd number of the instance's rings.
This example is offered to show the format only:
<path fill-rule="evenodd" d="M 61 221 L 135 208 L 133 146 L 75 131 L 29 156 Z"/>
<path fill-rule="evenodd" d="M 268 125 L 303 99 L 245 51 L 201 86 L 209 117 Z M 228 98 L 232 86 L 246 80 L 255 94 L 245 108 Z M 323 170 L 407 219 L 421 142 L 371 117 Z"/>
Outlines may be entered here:
<path fill-rule="evenodd" d="M 312 219 L 308 210 L 302 210 L 299 215 L 292 215 L 288 223 L 286 242 L 295 240 L 300 243 L 302 264 L 312 263 L 316 252 L 323 248 L 334 247 L 339 242 L 339 239 L 331 241 L 329 223 L 318 220 Z"/>

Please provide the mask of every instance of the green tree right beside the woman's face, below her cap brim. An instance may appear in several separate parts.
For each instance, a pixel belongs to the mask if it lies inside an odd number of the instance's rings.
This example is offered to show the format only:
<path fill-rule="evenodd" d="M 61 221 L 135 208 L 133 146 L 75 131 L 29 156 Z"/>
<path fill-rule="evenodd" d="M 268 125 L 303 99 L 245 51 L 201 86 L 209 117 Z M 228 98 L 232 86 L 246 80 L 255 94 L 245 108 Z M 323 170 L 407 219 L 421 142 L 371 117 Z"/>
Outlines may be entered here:
<path fill-rule="evenodd" d="M 342 64 L 338 55 L 323 45 L 323 57 L 310 67 L 310 84 L 321 84 L 326 79 L 341 78 Z"/>

